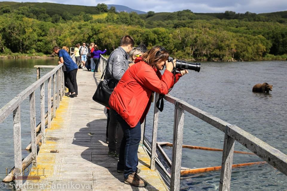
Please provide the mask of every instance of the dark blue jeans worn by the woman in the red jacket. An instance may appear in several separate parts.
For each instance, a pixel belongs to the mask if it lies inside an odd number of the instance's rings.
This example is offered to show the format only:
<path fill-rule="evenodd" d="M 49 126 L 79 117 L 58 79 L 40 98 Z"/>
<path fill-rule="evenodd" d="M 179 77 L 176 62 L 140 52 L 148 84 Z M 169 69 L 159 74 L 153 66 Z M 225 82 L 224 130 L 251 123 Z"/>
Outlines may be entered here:
<path fill-rule="evenodd" d="M 124 169 L 123 175 L 125 178 L 128 178 L 130 174 L 138 170 L 138 145 L 141 141 L 141 123 L 138 122 L 135 127 L 131 128 L 115 110 L 112 112 L 115 113 L 123 129 L 123 139 L 120 144 L 117 170 Z"/>

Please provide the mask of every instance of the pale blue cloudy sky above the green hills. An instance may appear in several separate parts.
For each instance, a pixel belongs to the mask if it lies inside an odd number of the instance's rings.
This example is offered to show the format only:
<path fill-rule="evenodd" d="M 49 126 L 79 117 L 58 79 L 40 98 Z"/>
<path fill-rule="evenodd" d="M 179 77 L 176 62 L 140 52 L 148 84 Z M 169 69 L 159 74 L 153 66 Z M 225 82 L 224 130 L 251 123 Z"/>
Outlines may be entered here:
<path fill-rule="evenodd" d="M 6 0 L 7 1 L 7 0 Z M 190 9 L 194 13 L 219 13 L 226 10 L 236 13 L 270 13 L 287 10 L 287 0 L 14 0 L 16 2 L 51 2 L 96 6 L 98 3 L 125 5 L 132 9 L 155 12 L 174 12 Z M 79 4 L 80 3 L 80 4 Z"/>

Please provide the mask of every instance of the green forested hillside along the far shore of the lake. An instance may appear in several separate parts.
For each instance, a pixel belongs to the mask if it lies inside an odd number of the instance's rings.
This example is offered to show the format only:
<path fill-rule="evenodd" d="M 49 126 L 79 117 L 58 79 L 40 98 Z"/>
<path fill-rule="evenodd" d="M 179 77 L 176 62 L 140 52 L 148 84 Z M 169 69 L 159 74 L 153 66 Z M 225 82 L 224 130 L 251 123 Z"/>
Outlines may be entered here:
<path fill-rule="evenodd" d="M 164 46 L 185 60 L 244 61 L 287 59 L 287 11 L 256 14 L 117 13 L 54 3 L 0 2 L 0 55 L 45 54 L 52 47 L 95 42 L 107 54 L 131 35 L 135 46 Z"/>

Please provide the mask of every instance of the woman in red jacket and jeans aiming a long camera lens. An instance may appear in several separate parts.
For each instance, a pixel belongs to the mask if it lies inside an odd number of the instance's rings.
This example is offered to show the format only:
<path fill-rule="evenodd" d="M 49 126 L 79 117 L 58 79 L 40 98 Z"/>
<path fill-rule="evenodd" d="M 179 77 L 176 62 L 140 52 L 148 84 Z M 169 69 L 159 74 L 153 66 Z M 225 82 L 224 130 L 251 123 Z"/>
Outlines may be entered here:
<path fill-rule="evenodd" d="M 135 60 L 115 87 L 110 99 L 110 112 L 114 112 L 124 132 L 120 146 L 117 171 L 124 173 L 126 184 L 144 187 L 146 183 L 137 175 L 138 145 L 141 140 L 141 123 L 149 110 L 152 92 L 167 94 L 175 82 L 188 73 L 172 73 L 172 62 L 164 47 L 155 46 Z M 175 63 L 175 60 L 173 61 Z M 163 70 L 161 75 L 159 70 Z"/>

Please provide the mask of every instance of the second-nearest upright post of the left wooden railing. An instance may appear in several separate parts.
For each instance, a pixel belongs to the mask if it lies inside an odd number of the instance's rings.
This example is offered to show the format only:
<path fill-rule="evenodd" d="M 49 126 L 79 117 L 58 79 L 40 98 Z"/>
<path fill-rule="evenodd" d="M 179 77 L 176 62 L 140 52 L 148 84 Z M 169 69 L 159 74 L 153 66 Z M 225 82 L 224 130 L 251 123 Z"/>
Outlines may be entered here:
<path fill-rule="evenodd" d="M 32 167 L 37 166 L 37 144 L 36 144 L 36 111 L 35 92 L 30 94 L 30 124 L 31 124 L 31 145 L 32 145 Z"/>

